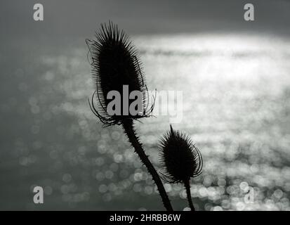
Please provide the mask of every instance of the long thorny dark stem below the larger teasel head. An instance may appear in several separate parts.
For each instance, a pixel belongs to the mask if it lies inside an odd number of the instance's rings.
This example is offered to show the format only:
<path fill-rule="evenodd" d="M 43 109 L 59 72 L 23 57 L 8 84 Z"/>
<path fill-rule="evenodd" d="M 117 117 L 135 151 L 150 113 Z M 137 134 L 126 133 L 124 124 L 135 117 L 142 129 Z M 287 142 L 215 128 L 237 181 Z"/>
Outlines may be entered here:
<path fill-rule="evenodd" d="M 162 198 L 164 207 L 166 208 L 167 211 L 173 211 L 169 197 L 164 189 L 162 181 L 156 169 L 153 167 L 152 163 L 148 159 L 148 156 L 145 154 L 142 143 L 140 143 L 139 138 L 136 135 L 136 131 L 133 127 L 133 120 L 125 120 L 122 125 L 124 127 L 124 131 L 126 135 L 128 136 L 128 139 L 131 145 L 133 146 L 133 148 L 135 148 L 135 151 L 138 154 L 140 160 L 143 162 L 145 167 L 147 167 L 148 172 L 151 174 L 153 181 L 157 185 L 157 189 Z"/>

